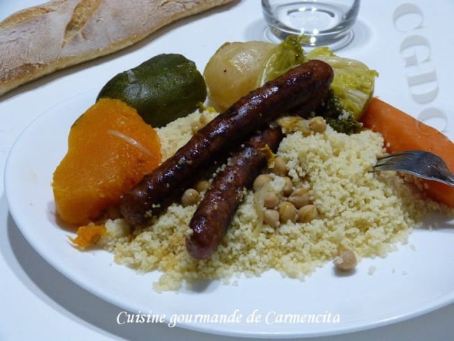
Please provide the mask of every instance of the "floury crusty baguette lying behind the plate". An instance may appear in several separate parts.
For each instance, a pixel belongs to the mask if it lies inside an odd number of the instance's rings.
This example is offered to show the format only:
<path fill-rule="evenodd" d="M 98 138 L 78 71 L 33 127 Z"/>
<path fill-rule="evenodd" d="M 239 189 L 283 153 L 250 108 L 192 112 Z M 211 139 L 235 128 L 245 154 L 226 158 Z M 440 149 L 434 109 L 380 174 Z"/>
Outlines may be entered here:
<path fill-rule="evenodd" d="M 0 22 L 0 96 L 121 50 L 182 17 L 233 0 L 56 0 Z"/>

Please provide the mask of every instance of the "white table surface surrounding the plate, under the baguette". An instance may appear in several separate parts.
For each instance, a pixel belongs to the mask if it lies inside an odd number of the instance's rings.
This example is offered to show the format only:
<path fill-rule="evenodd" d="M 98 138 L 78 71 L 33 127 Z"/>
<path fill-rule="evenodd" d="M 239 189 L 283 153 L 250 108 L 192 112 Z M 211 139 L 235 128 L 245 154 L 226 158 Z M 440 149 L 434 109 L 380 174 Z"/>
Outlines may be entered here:
<path fill-rule="evenodd" d="M 39 2 L 31 0 L 3 0 L 0 20 L 15 10 L 37 3 Z M 402 3 L 405 1 L 363 1 L 356 25 L 356 41 L 346 48 L 345 53 L 379 70 L 377 93 L 398 89 L 390 101 L 398 102 L 400 96 L 405 96 L 406 101 L 410 101 L 411 89 L 405 78 L 408 73 L 404 70 L 402 57 L 405 51 L 401 52 L 400 46 L 411 34 L 424 36 L 431 44 L 428 62 L 437 70 L 439 94 L 436 101 L 450 103 L 452 87 L 449 85 L 453 75 L 448 66 L 454 41 L 450 34 L 440 36 L 440 26 L 442 21 L 446 22 L 454 14 L 453 4 L 450 1 L 439 1 L 437 8 L 444 8 L 444 13 L 436 13 L 435 9 L 427 7 L 426 1 L 413 1 L 424 10 L 423 25 L 415 33 L 399 31 L 393 27 L 393 12 Z M 247 20 L 235 22 L 231 16 L 228 17 L 228 13 L 235 11 L 248 13 Z M 236 1 L 233 6 L 224 6 L 172 24 L 122 52 L 54 73 L 6 94 L 0 98 L 1 177 L 10 147 L 20 132 L 36 117 L 65 99 L 90 89 L 100 89 L 108 79 L 105 75 L 114 75 L 124 70 L 123 61 L 126 56 L 129 60 L 133 59 L 131 66 L 127 66 L 132 67 L 152 55 L 166 52 L 158 50 L 159 44 L 154 45 L 154 41 L 165 39 L 170 30 L 184 27 L 200 35 L 200 44 L 196 46 L 197 54 L 191 56 L 189 52 L 186 57 L 197 60 L 199 68 L 203 69 L 214 50 L 211 44 L 204 43 L 204 34 L 207 33 L 196 31 L 197 20 L 212 20 L 217 24 L 210 34 L 217 35 L 218 45 L 224 41 L 261 38 L 263 29 L 258 1 Z M 234 25 L 234 29 L 230 25 Z M 407 23 L 407 27 L 410 26 L 411 22 Z M 380 29 L 381 27 L 387 29 Z M 191 49 L 188 44 L 188 41 L 175 42 L 174 51 L 189 51 Z M 420 53 L 427 53 L 427 50 Z M 423 110 L 432 105 L 411 103 L 411 106 L 413 104 L 415 110 Z M 449 113 L 446 115 L 451 119 Z M 0 340 L 231 340 L 163 325 L 117 325 L 115 320 L 122 310 L 120 307 L 92 295 L 66 279 L 34 251 L 8 215 L 3 184 L 0 186 Z M 447 259 L 446 266 L 451 269 L 452 260 Z M 451 340 L 454 335 L 453 316 L 454 305 L 448 305 L 399 324 L 316 340 Z"/>

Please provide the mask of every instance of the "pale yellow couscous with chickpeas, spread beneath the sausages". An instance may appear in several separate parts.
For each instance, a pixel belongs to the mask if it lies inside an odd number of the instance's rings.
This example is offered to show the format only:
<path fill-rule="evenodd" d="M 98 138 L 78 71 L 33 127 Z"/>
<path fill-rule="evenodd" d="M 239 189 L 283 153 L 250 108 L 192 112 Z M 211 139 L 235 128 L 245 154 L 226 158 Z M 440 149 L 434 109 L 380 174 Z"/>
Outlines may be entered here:
<path fill-rule="evenodd" d="M 196 112 L 157 129 L 163 160 L 216 115 Z M 427 214 L 451 212 L 396 173 L 371 173 L 376 158 L 386 152 L 379 133 L 363 130 L 348 136 L 320 125 L 323 122 L 312 122 L 316 129 L 311 129 L 309 121 L 296 124 L 309 126 L 307 131 L 281 122 L 286 137 L 254 188 L 245 191 L 210 259 L 193 259 L 185 239 L 191 233 L 195 204 L 211 179 L 195 184 L 197 194 L 151 217 L 148 226 L 133 228 L 124 219 L 108 219 L 107 233 L 97 245 L 112 252 L 117 263 L 141 273 L 161 271 L 154 283 L 159 291 L 177 290 L 196 280 L 256 276 L 270 269 L 303 279 L 318 266 L 335 259 L 339 263 L 342 252 L 349 253 L 350 263 L 386 256 Z"/>

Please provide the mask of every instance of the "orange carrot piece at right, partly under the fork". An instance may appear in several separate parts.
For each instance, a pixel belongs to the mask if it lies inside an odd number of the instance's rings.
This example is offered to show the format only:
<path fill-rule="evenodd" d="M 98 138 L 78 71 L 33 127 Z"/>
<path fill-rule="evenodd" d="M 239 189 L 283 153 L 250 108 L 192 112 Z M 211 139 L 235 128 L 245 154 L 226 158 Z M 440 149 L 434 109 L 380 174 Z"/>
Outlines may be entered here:
<path fill-rule="evenodd" d="M 383 135 L 388 152 L 427 150 L 444 159 L 451 172 L 454 171 L 454 143 L 437 129 L 390 104 L 372 99 L 361 122 L 366 128 Z M 454 187 L 431 180 L 422 181 L 430 198 L 454 207 Z"/>

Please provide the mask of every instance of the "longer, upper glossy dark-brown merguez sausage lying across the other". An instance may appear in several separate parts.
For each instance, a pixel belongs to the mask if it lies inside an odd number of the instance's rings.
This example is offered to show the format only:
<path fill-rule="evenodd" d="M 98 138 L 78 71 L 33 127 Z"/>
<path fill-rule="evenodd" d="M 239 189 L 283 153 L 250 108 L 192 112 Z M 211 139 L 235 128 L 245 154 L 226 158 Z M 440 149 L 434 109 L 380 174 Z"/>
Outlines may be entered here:
<path fill-rule="evenodd" d="M 133 225 L 145 223 L 155 205 L 191 180 L 220 152 L 242 142 L 282 113 L 305 106 L 306 111 L 315 110 L 318 103 L 312 99 L 327 94 L 332 77 L 331 66 L 311 60 L 242 97 L 122 197 L 123 217 Z"/>

